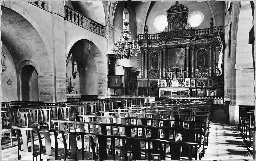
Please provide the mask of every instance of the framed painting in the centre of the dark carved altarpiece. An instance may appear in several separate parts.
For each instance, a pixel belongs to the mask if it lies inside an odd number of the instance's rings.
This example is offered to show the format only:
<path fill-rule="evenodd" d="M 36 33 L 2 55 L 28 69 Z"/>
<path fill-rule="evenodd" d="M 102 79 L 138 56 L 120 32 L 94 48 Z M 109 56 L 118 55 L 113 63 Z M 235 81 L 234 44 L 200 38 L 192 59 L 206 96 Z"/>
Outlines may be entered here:
<path fill-rule="evenodd" d="M 185 70 L 185 48 L 169 48 L 168 49 L 168 64 L 167 69 L 172 67 L 179 67 Z M 181 69 L 178 69 L 181 70 Z"/>

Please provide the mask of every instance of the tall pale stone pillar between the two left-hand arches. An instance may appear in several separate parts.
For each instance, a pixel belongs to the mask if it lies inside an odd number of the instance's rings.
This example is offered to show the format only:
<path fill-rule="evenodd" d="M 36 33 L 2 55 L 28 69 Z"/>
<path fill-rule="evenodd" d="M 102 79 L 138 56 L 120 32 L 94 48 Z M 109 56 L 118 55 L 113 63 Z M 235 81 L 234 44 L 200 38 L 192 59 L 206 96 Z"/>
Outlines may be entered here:
<path fill-rule="evenodd" d="M 65 23 L 63 17 L 63 1 L 51 2 L 52 7 L 52 48 L 54 65 L 55 98 L 53 101 L 66 101 L 66 60 L 65 53 Z M 46 88 L 48 89 L 48 88 Z M 42 90 L 42 89 L 40 89 Z M 45 101 L 45 100 L 41 100 Z M 50 100 L 48 100 L 50 101 Z"/>

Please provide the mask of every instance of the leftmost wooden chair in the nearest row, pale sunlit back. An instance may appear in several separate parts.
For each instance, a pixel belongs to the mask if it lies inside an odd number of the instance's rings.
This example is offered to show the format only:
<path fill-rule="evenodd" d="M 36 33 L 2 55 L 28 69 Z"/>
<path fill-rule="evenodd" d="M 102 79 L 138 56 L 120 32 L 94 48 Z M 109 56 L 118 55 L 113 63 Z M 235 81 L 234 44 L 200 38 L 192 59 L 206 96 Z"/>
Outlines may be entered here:
<path fill-rule="evenodd" d="M 21 156 L 32 156 L 33 160 L 35 157 L 40 156 L 41 160 L 41 153 L 45 152 L 45 146 L 35 145 L 35 136 L 33 131 L 36 129 L 33 128 L 21 128 L 21 127 L 12 127 L 15 130 L 16 136 L 17 136 L 17 142 L 18 142 L 18 160 L 21 160 Z M 30 140 L 31 145 L 28 145 L 28 138 L 27 135 L 30 133 Z M 20 136 L 21 135 L 21 136 Z M 37 133 L 38 138 L 41 140 L 40 133 Z M 20 138 L 22 138 L 22 143 Z M 40 141 L 39 140 L 39 141 Z M 23 144 L 23 149 L 21 149 L 21 144 Z"/>

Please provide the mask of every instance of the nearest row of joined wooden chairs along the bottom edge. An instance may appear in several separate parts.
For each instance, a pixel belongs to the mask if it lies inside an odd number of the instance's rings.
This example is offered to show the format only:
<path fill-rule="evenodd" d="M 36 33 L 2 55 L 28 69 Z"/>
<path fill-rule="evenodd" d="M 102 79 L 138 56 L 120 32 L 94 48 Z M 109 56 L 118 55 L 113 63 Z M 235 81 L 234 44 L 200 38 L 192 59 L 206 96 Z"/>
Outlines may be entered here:
<path fill-rule="evenodd" d="M 187 149 L 186 156 L 188 159 L 197 159 L 193 155 L 193 149 L 197 147 L 197 143 L 192 142 L 20 127 L 13 127 L 13 129 L 15 129 L 17 138 L 22 138 L 23 144 L 23 148 L 21 148 L 21 140 L 18 139 L 18 160 L 21 159 L 22 155 L 30 155 L 33 160 L 37 156 L 40 157 L 40 160 L 152 160 L 153 156 L 165 160 L 167 147 L 170 149 L 170 159 L 180 160 L 182 148 Z M 27 140 L 28 131 L 31 137 L 30 146 Z M 62 140 L 58 138 L 58 134 L 61 134 Z M 36 139 L 38 139 L 39 145 L 35 144 Z M 52 143 L 53 140 L 54 143 Z M 107 140 L 111 140 L 110 150 L 107 148 Z M 115 145 L 116 140 L 120 141 L 118 147 Z M 96 144 L 99 145 L 98 148 L 95 148 Z M 141 149 L 141 144 L 146 146 Z M 90 148 L 87 147 L 88 145 L 90 145 Z M 118 151 L 119 153 L 116 154 Z M 130 157 L 128 154 L 130 154 Z"/>

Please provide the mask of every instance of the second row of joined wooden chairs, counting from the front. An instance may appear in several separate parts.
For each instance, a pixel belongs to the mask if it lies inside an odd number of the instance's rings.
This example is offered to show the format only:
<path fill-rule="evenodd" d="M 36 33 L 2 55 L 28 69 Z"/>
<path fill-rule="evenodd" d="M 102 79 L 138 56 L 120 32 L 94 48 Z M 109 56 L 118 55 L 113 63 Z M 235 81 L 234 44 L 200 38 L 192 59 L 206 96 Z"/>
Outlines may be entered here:
<path fill-rule="evenodd" d="M 202 129 L 188 129 L 188 128 L 175 128 L 169 126 L 144 126 L 144 125 L 124 125 L 124 124 L 104 124 L 95 122 L 75 122 L 75 121 L 64 121 L 64 120 L 53 120 L 56 130 L 70 131 L 71 127 L 73 131 L 79 130 L 80 132 L 97 133 L 104 135 L 123 135 L 126 137 L 137 137 L 137 138 L 153 138 L 153 139 L 164 139 L 169 141 L 178 141 L 182 138 L 182 142 L 196 142 L 200 146 L 203 145 Z M 66 128 L 65 128 L 66 125 Z M 71 126 L 70 126 L 71 125 Z M 79 128 L 78 128 L 79 127 Z M 107 142 L 107 145 L 111 141 Z M 120 143 L 116 143 L 118 146 Z M 141 145 L 143 148 L 145 145 Z M 201 148 L 197 148 L 201 153 Z M 184 149 L 183 152 L 186 150 Z M 167 151 L 168 152 L 168 151 Z"/>

